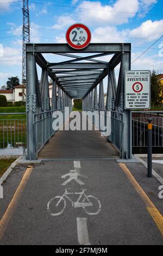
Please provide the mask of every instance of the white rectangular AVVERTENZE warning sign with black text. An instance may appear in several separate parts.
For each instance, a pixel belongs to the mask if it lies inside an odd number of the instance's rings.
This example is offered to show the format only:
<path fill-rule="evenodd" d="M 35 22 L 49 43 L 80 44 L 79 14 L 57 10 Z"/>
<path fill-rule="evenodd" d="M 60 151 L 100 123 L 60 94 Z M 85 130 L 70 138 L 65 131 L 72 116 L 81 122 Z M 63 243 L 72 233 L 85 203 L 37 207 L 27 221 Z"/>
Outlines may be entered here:
<path fill-rule="evenodd" d="M 148 70 L 125 71 L 126 109 L 151 107 L 151 72 Z"/>

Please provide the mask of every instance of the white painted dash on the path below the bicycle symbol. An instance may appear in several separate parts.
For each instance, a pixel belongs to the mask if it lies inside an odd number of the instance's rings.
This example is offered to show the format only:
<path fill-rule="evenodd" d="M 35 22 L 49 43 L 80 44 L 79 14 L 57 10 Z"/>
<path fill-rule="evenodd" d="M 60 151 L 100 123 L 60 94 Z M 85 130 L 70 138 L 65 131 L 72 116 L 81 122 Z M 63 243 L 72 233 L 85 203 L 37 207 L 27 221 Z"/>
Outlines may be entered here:
<path fill-rule="evenodd" d="M 79 245 L 91 245 L 87 231 L 87 218 L 77 218 L 78 242 Z"/>

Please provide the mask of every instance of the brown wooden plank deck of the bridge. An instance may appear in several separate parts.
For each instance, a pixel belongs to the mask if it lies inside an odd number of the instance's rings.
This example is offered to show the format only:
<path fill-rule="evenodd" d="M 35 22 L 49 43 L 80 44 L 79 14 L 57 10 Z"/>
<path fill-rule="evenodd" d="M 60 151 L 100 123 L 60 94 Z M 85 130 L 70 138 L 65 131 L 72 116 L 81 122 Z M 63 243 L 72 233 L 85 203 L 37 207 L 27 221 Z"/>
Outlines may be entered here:
<path fill-rule="evenodd" d="M 41 159 L 118 157 L 114 145 L 99 131 L 58 131 L 40 151 Z"/>

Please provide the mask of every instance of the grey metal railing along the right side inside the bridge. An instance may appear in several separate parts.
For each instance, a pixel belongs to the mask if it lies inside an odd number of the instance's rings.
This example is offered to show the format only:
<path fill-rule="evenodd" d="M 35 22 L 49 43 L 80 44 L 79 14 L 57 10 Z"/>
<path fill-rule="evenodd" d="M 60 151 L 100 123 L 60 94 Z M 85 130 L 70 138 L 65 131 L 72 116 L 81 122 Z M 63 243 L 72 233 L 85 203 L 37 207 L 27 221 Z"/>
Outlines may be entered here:
<path fill-rule="evenodd" d="M 93 124 L 95 124 L 98 128 L 99 131 L 103 130 L 101 129 L 101 124 L 103 123 L 104 126 L 107 125 L 107 133 L 109 135 L 106 136 L 108 137 L 108 140 L 115 145 L 115 147 L 118 149 L 120 152 L 120 156 L 122 154 L 122 145 L 123 145 L 123 127 L 124 127 L 124 113 L 122 112 L 117 112 L 117 111 L 109 111 L 106 109 L 95 109 L 95 108 L 86 108 L 83 107 L 84 111 L 92 111 L 92 112 L 97 112 L 99 117 L 98 117 L 98 124 L 95 122 L 95 119 L 93 120 Z M 103 121 L 101 120 L 103 119 Z"/>

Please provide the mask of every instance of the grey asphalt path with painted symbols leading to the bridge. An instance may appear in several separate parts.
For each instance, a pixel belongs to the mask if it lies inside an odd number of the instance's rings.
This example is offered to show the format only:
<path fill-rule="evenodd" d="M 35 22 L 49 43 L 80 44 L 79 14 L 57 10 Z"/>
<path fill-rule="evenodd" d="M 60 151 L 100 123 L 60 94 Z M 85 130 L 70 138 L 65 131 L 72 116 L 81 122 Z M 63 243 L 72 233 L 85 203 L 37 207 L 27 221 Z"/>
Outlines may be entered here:
<path fill-rule="evenodd" d="M 8 186 L 9 182 L 4 184 L 5 191 Z M 57 197 L 66 189 L 72 193 L 69 200 Z M 78 203 L 80 194 L 74 193 L 83 190 L 85 196 Z M 44 161 L 33 168 L 0 245 L 82 243 L 163 245 L 163 239 L 115 160 Z"/>

